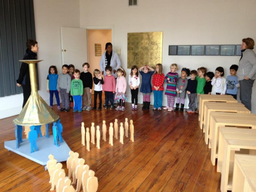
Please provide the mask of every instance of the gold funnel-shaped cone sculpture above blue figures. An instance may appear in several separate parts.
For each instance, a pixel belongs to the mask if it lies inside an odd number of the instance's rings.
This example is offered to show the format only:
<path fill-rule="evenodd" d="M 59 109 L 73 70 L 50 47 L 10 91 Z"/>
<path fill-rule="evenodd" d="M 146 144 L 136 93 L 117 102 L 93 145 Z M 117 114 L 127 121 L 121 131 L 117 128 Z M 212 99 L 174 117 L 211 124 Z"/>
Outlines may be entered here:
<path fill-rule="evenodd" d="M 37 91 L 36 82 L 36 63 L 42 60 L 19 60 L 24 63 L 28 63 L 31 95 L 20 115 L 13 119 L 13 123 L 16 125 L 42 125 L 49 124 L 57 121 L 60 117 L 52 111 L 47 103 L 42 99 Z"/>

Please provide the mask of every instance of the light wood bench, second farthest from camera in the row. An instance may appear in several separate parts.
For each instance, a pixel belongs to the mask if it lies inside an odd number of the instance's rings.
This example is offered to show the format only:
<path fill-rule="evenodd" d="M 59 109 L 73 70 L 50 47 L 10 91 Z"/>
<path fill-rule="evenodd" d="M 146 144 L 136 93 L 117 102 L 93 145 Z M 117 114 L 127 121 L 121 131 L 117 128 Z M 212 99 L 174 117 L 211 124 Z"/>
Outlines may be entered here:
<path fill-rule="evenodd" d="M 210 112 L 232 112 L 232 113 L 251 113 L 249 109 L 244 107 L 242 103 L 225 103 L 225 102 L 204 102 L 204 126 L 203 132 L 204 141 L 208 144 L 209 139 L 209 126 L 210 126 Z"/>

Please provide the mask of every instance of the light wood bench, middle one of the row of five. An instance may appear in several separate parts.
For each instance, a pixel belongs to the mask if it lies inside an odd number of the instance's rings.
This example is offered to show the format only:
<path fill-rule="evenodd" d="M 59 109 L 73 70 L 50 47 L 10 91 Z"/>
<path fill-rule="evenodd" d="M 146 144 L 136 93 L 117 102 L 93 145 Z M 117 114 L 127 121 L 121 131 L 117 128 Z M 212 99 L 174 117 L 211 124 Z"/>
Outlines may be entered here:
<path fill-rule="evenodd" d="M 219 128 L 225 126 L 241 126 L 256 129 L 256 114 L 210 112 L 210 122 L 208 148 L 212 149 L 211 161 L 212 165 L 215 165 L 215 159 L 218 158 Z"/>

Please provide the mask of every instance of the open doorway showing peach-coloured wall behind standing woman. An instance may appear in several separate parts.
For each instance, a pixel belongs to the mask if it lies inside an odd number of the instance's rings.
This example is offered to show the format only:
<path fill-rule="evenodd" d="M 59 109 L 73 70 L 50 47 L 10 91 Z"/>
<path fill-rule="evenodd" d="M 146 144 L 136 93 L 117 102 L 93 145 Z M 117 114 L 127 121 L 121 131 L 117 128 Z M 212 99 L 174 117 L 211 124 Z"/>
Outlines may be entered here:
<path fill-rule="evenodd" d="M 87 29 L 87 50 L 88 50 L 88 63 L 90 64 L 90 73 L 94 69 L 100 70 L 100 58 L 103 52 L 105 52 L 105 45 L 108 42 L 112 42 L 112 30 L 111 29 Z M 95 52 L 95 44 L 97 48 L 101 46 L 101 52 Z M 97 56 L 96 56 L 97 55 Z M 94 90 L 94 86 L 92 88 Z"/>

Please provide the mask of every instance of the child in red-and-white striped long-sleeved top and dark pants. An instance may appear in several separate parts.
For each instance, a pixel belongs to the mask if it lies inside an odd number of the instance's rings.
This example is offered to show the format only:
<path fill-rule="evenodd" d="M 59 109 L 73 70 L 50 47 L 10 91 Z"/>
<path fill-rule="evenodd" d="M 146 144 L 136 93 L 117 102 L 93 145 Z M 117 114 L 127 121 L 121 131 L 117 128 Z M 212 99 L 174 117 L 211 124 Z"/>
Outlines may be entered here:
<path fill-rule="evenodd" d="M 115 77 L 111 75 L 112 67 L 107 65 L 105 67 L 106 76 L 104 76 L 104 84 L 102 91 L 105 92 L 105 109 L 108 109 L 108 102 L 110 101 L 110 110 L 114 109 L 114 92 L 116 91 Z"/>

